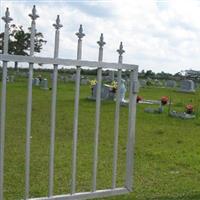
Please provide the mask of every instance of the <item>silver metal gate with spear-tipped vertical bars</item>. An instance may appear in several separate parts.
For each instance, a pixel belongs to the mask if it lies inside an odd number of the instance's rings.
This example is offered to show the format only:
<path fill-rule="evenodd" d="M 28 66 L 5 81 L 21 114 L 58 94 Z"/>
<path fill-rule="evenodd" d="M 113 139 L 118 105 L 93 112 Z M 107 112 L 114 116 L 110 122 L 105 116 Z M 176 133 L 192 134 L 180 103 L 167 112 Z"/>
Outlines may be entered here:
<path fill-rule="evenodd" d="M 32 200 L 47 200 L 47 199 L 91 199 L 98 197 L 106 197 L 112 195 L 125 194 L 132 191 L 133 184 L 133 161 L 134 161 L 134 136 L 135 136 L 135 119 L 136 119 L 136 97 L 138 92 L 138 66 L 122 63 L 123 50 L 122 43 L 117 50 L 119 53 L 118 63 L 103 62 L 103 46 L 105 45 L 103 34 L 97 42 L 99 45 L 98 61 L 85 61 L 81 60 L 82 56 L 82 38 L 85 36 L 83 33 L 82 25 L 76 33 L 78 37 L 77 47 L 77 60 L 60 59 L 59 53 L 59 34 L 60 18 L 57 16 L 55 27 L 55 47 L 54 58 L 49 57 L 35 57 L 34 56 L 34 37 L 36 32 L 36 19 L 39 17 L 36 14 L 36 8 L 33 6 L 32 13 L 29 14 L 31 22 L 31 44 L 30 56 L 19 56 L 8 54 L 8 41 L 9 41 L 9 23 L 12 21 L 9 9 L 7 8 L 5 16 L 2 17 L 5 22 L 3 54 L 0 55 L 0 60 L 3 61 L 2 72 L 2 93 L 1 93 L 1 115 L 0 115 L 0 200 L 4 199 L 3 196 L 3 179 L 4 179 L 4 144 L 5 144 L 5 119 L 6 119 L 6 78 L 8 62 L 26 62 L 29 63 L 29 77 L 28 77 L 28 97 L 27 97 L 27 114 L 26 114 L 26 154 L 25 154 L 25 193 L 24 199 Z M 53 81 L 52 81 L 52 103 L 51 103 L 51 131 L 50 131 L 50 155 L 49 155 L 49 184 L 48 196 L 40 198 L 30 198 L 30 136 L 31 136 L 31 116 L 32 116 L 32 79 L 34 64 L 52 64 Z M 71 172 L 71 193 L 54 195 L 54 143 L 55 143 L 55 122 L 56 122 L 56 97 L 57 97 L 57 74 L 58 66 L 76 66 L 76 84 L 75 84 L 75 103 L 74 103 L 74 126 L 73 126 L 73 149 L 72 149 L 72 172 Z M 87 66 L 97 68 L 97 97 L 96 97 L 96 118 L 95 118 L 95 133 L 94 133 L 94 152 L 93 152 L 93 178 L 92 188 L 88 192 L 76 192 L 76 173 L 77 173 L 77 140 L 78 140 L 78 116 L 79 116 L 79 93 L 80 93 L 80 75 L 81 67 Z M 100 107 L 101 107 L 101 84 L 102 84 L 102 69 L 114 69 L 118 74 L 118 87 L 120 87 L 122 70 L 130 71 L 130 92 L 129 92 L 129 125 L 128 125 L 128 140 L 127 140 L 127 156 L 126 156 L 126 180 L 124 187 L 118 188 L 116 186 L 117 177 L 117 159 L 118 159 L 118 135 L 119 135 L 119 113 L 120 113 L 120 88 L 117 90 L 116 95 L 116 110 L 115 110 L 115 127 L 114 127 L 114 149 L 113 149 L 113 178 L 112 187 L 105 190 L 97 190 L 97 166 L 98 166 L 98 139 L 99 139 L 99 123 L 100 123 Z"/>

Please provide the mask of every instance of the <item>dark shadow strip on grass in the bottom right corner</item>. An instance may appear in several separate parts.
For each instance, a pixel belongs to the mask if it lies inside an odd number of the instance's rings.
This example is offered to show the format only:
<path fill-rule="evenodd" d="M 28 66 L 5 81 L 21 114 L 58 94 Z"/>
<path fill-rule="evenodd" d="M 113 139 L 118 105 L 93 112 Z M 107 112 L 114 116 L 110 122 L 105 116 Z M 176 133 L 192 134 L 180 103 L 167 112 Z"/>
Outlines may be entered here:
<path fill-rule="evenodd" d="M 161 196 L 161 197 L 154 197 L 148 198 L 147 200 L 200 200 L 200 192 L 196 194 L 186 194 L 182 196 Z"/>

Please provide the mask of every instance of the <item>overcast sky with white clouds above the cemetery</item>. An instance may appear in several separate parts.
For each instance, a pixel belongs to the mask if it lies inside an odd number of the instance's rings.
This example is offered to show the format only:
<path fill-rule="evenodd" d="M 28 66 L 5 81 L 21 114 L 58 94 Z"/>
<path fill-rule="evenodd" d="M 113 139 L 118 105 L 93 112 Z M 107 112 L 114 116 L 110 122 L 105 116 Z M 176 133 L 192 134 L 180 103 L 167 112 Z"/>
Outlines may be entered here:
<path fill-rule="evenodd" d="M 40 18 L 37 30 L 47 44 L 41 54 L 53 56 L 54 27 L 57 14 L 63 28 L 60 35 L 62 58 L 76 58 L 77 32 L 83 25 L 83 59 L 97 60 L 100 33 L 104 34 L 104 61 L 117 62 L 116 49 L 124 44 L 124 63 L 142 69 L 176 73 L 184 69 L 200 70 L 199 0 L 98 0 L 44 1 L 0 0 L 1 17 L 9 7 L 13 23 L 30 26 L 32 6 Z M 0 31 L 4 30 L 1 20 Z"/>

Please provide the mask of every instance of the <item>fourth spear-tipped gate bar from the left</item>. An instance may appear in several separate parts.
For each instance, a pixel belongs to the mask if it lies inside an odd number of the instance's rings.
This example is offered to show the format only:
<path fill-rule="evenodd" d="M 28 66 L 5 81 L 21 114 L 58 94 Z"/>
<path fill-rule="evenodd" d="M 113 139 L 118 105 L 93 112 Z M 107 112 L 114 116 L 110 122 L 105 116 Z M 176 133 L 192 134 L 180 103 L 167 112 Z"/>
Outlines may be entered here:
<path fill-rule="evenodd" d="M 80 25 L 78 36 L 77 60 L 81 60 L 82 56 L 82 38 L 85 36 L 83 33 L 82 25 Z M 74 133 L 73 133 L 73 150 L 72 150 L 72 183 L 71 194 L 76 192 L 76 162 L 77 162 L 77 142 L 78 142 L 78 113 L 79 113 L 79 94 L 80 94 L 80 73 L 81 68 L 76 68 L 76 89 L 75 89 L 75 102 L 74 102 Z"/>

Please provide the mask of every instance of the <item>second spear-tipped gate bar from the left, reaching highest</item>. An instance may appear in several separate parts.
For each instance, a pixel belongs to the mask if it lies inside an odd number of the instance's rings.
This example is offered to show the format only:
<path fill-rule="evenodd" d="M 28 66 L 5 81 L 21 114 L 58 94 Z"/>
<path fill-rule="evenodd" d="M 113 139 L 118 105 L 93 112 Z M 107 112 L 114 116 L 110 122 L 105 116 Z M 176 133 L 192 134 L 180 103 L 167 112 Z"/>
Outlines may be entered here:
<path fill-rule="evenodd" d="M 35 20 L 39 17 L 36 14 L 36 8 L 33 6 L 32 14 L 29 15 L 31 22 L 31 46 L 30 56 L 34 55 L 35 38 Z M 27 114 L 26 114 L 26 156 L 25 156 L 25 199 L 29 198 L 30 188 L 30 136 L 31 136 L 31 114 L 32 114 L 32 79 L 33 63 L 29 63 L 28 96 L 27 96 Z"/>

